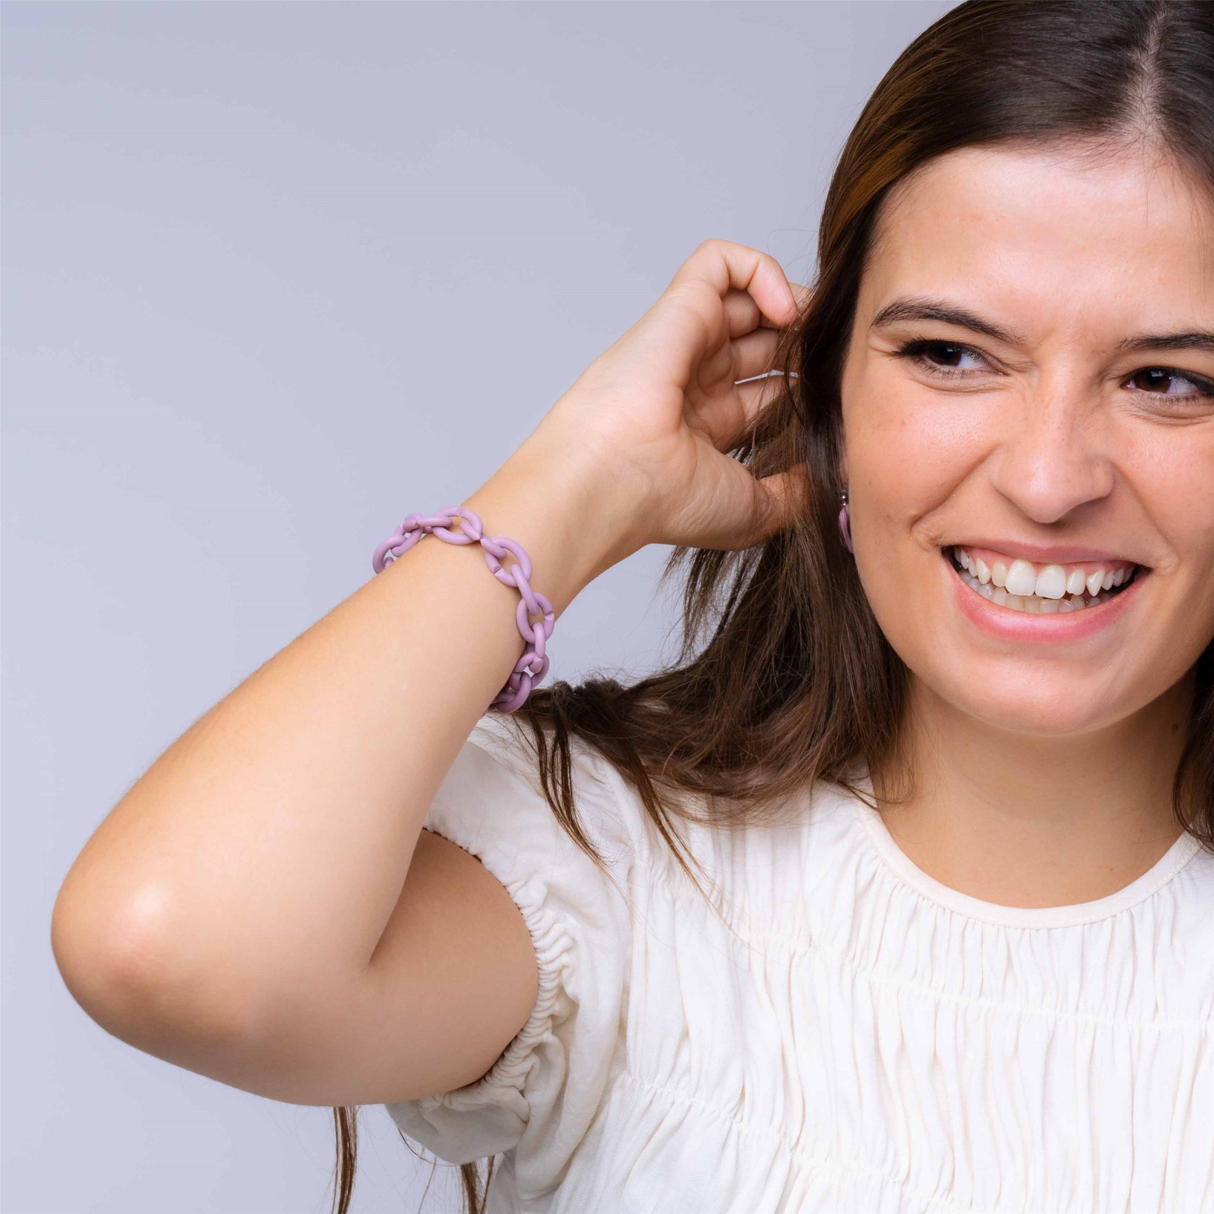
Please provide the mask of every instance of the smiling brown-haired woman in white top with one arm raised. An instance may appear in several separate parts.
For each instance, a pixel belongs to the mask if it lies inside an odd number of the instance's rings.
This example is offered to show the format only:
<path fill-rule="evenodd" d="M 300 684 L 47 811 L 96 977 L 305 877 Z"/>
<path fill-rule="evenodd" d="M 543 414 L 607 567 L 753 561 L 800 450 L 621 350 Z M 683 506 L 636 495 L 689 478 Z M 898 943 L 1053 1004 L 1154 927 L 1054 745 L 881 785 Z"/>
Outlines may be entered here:
<path fill-rule="evenodd" d="M 494 1212 L 1214 1209 L 1208 4 L 953 10 L 812 295 L 702 245 L 464 505 L 555 618 L 676 545 L 679 664 L 486 713 L 413 543 L 90 840 L 90 1015 Z"/>

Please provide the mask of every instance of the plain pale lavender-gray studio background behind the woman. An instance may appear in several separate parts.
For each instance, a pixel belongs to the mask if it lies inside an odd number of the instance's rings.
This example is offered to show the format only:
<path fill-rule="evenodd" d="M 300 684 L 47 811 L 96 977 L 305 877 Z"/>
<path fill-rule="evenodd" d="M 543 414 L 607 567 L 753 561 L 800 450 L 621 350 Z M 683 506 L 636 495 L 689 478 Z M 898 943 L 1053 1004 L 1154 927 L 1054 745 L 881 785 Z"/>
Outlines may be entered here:
<path fill-rule="evenodd" d="M 325 1110 L 72 1002 L 64 872 L 702 239 L 804 280 L 841 140 L 947 7 L 4 5 L 6 1214 L 328 1208 Z M 666 552 L 566 612 L 550 679 L 660 660 Z M 418 1209 L 429 1164 L 363 1135 L 356 1209 Z"/>

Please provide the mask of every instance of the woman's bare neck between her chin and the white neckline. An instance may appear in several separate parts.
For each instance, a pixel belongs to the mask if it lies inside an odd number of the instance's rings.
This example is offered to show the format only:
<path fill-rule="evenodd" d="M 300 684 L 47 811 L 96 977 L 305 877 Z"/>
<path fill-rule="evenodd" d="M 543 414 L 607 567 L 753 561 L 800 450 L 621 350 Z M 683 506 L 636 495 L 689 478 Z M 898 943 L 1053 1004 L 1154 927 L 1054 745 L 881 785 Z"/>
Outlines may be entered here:
<path fill-rule="evenodd" d="M 1172 782 L 1192 696 L 1184 679 L 1096 733 L 1042 738 L 966 716 L 912 677 L 904 753 L 915 787 L 883 819 L 919 868 L 985 902 L 1116 894 L 1180 835 Z"/>

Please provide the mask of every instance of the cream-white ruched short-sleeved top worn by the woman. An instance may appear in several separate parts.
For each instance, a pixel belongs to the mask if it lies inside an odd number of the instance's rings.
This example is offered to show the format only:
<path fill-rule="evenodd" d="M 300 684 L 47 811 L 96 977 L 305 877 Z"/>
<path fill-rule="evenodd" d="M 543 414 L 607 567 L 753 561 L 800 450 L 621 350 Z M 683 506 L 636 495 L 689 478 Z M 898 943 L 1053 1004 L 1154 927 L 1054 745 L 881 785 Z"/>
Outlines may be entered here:
<path fill-rule="evenodd" d="M 716 915 L 634 787 L 574 741 L 597 869 L 489 714 L 426 826 L 478 856 L 539 959 L 483 1078 L 388 1105 L 490 1214 L 1214 1212 L 1214 856 L 1181 835 L 1105 898 L 934 880 L 832 787 L 688 829 Z"/>

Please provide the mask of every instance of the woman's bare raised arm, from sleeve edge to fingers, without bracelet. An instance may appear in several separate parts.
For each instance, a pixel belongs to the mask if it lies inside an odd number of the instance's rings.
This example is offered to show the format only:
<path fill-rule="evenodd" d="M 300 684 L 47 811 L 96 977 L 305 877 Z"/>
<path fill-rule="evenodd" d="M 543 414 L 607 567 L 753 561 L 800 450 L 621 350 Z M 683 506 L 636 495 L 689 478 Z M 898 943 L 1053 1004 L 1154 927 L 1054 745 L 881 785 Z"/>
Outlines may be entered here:
<path fill-rule="evenodd" d="M 465 500 L 523 545 L 557 614 L 647 543 L 742 546 L 783 523 L 785 478 L 721 453 L 762 403 L 734 381 L 766 369 L 794 314 L 775 261 L 702 245 Z M 174 742 L 56 903 L 56 959 L 85 1010 L 297 1104 L 484 1073 L 534 1002 L 531 938 L 501 885 L 421 824 L 522 652 L 517 602 L 480 545 L 427 538 Z"/>

